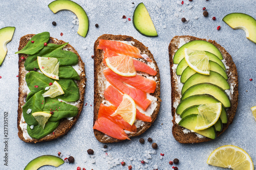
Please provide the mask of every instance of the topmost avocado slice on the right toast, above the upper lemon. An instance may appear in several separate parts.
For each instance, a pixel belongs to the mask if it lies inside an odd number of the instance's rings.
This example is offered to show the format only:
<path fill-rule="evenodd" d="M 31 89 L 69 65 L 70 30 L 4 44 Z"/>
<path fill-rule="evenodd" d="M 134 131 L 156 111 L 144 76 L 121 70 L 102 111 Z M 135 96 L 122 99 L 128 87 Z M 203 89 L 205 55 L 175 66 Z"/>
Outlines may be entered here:
<path fill-rule="evenodd" d="M 179 48 L 179 50 L 177 50 L 177 52 L 174 55 L 174 64 L 179 64 L 180 61 L 184 58 L 184 48 L 207 51 L 212 54 L 215 54 L 219 59 L 221 60 L 223 59 L 221 52 L 216 46 L 214 46 L 214 44 L 209 43 L 207 41 L 203 41 L 203 40 L 194 40 L 194 41 L 185 43 Z"/>

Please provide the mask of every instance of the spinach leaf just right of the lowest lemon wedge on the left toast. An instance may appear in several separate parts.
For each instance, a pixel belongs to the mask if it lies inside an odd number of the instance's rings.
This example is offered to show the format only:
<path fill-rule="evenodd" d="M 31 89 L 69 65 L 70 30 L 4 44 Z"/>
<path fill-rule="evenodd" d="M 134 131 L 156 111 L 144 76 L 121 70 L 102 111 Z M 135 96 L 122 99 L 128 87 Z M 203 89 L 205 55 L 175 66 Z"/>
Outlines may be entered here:
<path fill-rule="evenodd" d="M 42 110 L 47 113 L 54 111 L 48 121 L 57 122 L 61 118 L 74 117 L 78 114 L 78 108 L 76 106 L 59 102 L 57 98 L 46 98 L 45 100 L 45 107 Z"/>

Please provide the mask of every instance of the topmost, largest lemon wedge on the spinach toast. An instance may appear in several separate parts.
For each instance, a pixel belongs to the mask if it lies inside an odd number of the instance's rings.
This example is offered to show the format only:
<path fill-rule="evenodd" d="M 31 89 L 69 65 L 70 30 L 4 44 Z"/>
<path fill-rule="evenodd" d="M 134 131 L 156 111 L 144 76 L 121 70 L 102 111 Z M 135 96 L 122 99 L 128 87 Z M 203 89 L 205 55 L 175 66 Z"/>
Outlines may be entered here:
<path fill-rule="evenodd" d="M 58 59 L 52 57 L 37 56 L 37 63 L 41 72 L 47 77 L 59 80 L 59 62 Z"/>

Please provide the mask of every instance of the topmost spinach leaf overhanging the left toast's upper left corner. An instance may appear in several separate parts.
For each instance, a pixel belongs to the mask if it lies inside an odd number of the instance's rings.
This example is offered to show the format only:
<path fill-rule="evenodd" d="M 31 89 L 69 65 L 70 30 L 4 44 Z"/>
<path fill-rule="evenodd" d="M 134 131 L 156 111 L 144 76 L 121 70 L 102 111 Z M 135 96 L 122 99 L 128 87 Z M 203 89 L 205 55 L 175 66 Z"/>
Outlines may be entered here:
<path fill-rule="evenodd" d="M 38 53 L 42 48 L 45 47 L 44 43 L 48 42 L 50 39 L 50 33 L 49 32 L 42 32 L 40 34 L 36 34 L 34 35 L 26 44 L 26 46 L 24 46 L 24 48 L 22 48 L 22 50 L 16 52 L 15 54 L 29 54 L 29 55 L 33 55 Z M 32 43 L 31 41 L 34 41 L 34 43 Z"/>

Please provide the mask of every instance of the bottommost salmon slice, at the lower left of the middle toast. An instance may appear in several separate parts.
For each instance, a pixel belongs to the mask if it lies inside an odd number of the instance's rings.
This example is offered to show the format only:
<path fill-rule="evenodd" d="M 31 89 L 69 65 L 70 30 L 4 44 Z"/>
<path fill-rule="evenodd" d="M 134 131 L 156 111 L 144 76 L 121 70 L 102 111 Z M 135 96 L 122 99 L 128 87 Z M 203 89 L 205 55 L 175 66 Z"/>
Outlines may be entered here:
<path fill-rule="evenodd" d="M 99 117 L 98 120 L 96 120 L 93 129 L 96 129 L 110 137 L 119 140 L 130 140 L 130 138 L 127 136 L 122 128 L 120 128 L 117 124 L 113 123 L 111 120 L 105 117 Z"/>

